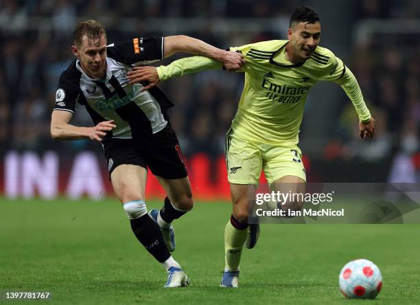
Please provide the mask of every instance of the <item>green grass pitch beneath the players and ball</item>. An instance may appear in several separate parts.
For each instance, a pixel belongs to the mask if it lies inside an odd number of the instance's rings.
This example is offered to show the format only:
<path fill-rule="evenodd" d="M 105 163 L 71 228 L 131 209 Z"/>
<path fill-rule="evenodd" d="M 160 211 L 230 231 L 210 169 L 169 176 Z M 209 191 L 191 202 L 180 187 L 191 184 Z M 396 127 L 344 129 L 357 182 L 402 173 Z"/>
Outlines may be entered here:
<path fill-rule="evenodd" d="M 7 291 L 48 291 L 51 304 L 420 304 L 420 225 L 262 225 L 255 249 L 244 249 L 240 288 L 222 289 L 230 212 L 198 202 L 175 222 L 174 258 L 191 285 L 163 289 L 165 270 L 117 200 L 1 199 L 0 302 L 19 303 Z M 376 300 L 342 297 L 338 273 L 355 258 L 380 267 Z"/>

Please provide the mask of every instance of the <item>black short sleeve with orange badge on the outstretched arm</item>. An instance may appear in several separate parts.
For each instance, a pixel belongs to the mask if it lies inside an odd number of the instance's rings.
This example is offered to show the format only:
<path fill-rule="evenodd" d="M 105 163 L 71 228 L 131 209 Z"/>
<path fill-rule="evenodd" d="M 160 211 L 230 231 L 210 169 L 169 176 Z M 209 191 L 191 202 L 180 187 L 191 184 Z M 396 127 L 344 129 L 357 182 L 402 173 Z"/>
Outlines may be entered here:
<path fill-rule="evenodd" d="M 148 65 L 164 58 L 165 38 L 133 38 L 108 45 L 108 57 L 126 65 Z"/>

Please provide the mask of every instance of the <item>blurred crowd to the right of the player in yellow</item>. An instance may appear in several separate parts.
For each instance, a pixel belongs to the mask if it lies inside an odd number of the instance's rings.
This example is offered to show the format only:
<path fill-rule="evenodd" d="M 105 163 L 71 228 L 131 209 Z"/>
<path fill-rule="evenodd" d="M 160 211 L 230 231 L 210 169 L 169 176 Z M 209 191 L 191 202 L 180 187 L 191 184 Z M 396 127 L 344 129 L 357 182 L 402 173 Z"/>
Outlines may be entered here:
<path fill-rule="evenodd" d="M 360 19 L 416 19 L 419 3 L 403 1 L 359 1 Z M 390 19 L 392 21 L 392 19 Z M 420 132 L 420 29 L 417 32 L 384 33 L 353 45 L 349 66 L 355 74 L 366 104 L 377 122 L 377 137 L 371 142 L 357 138 L 354 110 L 347 104 L 338 122 L 340 137 L 325 146 L 328 159 L 360 156 L 376 160 L 396 153 L 419 152 Z"/>

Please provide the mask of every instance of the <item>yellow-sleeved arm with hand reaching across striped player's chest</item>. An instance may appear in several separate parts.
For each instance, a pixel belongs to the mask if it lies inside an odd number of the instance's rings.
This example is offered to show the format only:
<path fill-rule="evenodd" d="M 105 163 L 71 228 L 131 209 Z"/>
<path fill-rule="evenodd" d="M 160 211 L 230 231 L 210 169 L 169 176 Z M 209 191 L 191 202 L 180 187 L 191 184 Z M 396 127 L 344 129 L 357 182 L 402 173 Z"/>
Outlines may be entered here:
<path fill-rule="evenodd" d="M 148 82 L 142 89 L 148 90 L 161 80 L 167 80 L 185 74 L 197 73 L 210 69 L 222 69 L 223 64 L 217 60 L 203 56 L 191 56 L 175 60 L 167 66 L 160 67 L 133 67 L 132 71 L 128 72 L 128 79 L 130 84 L 135 82 Z"/>

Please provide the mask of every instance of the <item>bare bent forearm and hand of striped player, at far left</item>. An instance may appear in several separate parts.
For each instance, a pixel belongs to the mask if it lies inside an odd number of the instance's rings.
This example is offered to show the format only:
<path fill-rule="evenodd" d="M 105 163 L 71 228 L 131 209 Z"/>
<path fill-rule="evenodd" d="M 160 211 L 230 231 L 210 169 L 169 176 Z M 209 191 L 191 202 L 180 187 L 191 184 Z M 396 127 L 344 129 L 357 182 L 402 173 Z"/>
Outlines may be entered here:
<path fill-rule="evenodd" d="M 51 115 L 51 137 L 53 139 L 91 139 L 102 142 L 107 131 L 117 127 L 114 121 L 100 122 L 93 127 L 78 127 L 69 124 L 73 113 L 69 111 L 53 111 Z"/>

